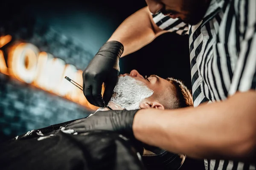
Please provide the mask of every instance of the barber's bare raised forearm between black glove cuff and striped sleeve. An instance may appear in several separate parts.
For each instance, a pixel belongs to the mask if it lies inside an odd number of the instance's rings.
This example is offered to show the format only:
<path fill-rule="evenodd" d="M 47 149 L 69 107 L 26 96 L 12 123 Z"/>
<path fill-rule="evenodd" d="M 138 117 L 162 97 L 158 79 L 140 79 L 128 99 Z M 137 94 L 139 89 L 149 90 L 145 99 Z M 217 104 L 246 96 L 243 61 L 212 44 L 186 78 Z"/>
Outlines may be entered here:
<path fill-rule="evenodd" d="M 128 17 L 116 29 L 108 41 L 115 40 L 124 45 L 121 57 L 139 50 L 163 32 L 152 23 L 151 18 L 148 7 L 145 7 Z"/>

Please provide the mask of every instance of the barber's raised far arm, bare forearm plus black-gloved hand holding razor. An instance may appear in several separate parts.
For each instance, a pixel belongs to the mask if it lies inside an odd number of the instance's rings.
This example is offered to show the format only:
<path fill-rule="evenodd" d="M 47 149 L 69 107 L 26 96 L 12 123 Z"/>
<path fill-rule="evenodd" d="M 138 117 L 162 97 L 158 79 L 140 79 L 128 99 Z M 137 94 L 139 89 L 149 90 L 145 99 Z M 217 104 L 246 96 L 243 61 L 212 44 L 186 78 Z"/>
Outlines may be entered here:
<path fill-rule="evenodd" d="M 111 99 L 119 74 L 119 59 L 130 54 L 158 35 L 167 32 L 153 22 L 148 7 L 128 17 L 113 33 L 83 72 L 83 91 L 88 102 L 105 107 Z M 102 83 L 105 92 L 102 99 Z"/>

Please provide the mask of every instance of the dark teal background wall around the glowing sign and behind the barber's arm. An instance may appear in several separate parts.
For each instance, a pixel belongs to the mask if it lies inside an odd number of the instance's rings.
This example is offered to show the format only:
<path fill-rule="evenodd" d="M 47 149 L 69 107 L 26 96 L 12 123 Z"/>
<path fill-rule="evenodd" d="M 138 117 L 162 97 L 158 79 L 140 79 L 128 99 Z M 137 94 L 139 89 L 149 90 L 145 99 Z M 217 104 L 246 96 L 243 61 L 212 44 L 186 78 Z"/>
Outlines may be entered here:
<path fill-rule="evenodd" d="M 0 10 L 3 21 L 0 21 L 0 33 L 13 34 L 13 37 L 17 34 L 16 39 L 33 42 L 39 49 L 47 49 L 55 57 L 84 70 L 119 24 L 144 6 L 144 0 L 4 2 Z M 44 29 L 56 36 L 46 40 Z M 63 36 L 76 48 L 71 49 L 67 42 L 62 42 Z M 69 53 L 61 55 L 55 49 Z M 76 57 L 77 51 L 79 57 Z M 174 77 L 191 89 L 188 36 L 163 34 L 139 51 L 123 57 L 120 68 L 120 74 L 137 69 L 143 76 Z M 0 73 L 0 141 L 91 112 Z M 183 169 L 200 169 L 202 165 L 187 159 Z"/>

